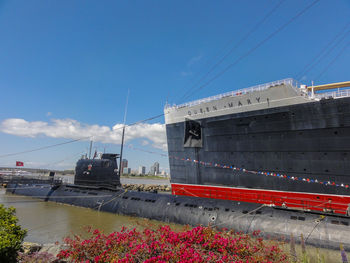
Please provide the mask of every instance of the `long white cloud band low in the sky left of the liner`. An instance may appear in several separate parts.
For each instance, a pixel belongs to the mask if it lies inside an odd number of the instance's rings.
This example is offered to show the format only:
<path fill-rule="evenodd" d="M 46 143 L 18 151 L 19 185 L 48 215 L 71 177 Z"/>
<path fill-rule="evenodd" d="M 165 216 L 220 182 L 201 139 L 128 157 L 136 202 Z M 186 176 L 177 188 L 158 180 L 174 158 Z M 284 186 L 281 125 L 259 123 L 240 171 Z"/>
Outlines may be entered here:
<path fill-rule="evenodd" d="M 24 119 L 6 119 L 0 123 L 0 131 L 22 137 L 35 138 L 45 135 L 52 138 L 79 139 L 93 136 L 93 140 L 102 143 L 120 144 L 123 124 L 112 128 L 100 125 L 82 124 L 72 119 L 53 119 L 51 122 L 26 121 Z M 126 128 L 125 142 L 133 139 L 147 139 L 152 146 L 166 150 L 165 125 L 161 123 L 140 123 Z"/>

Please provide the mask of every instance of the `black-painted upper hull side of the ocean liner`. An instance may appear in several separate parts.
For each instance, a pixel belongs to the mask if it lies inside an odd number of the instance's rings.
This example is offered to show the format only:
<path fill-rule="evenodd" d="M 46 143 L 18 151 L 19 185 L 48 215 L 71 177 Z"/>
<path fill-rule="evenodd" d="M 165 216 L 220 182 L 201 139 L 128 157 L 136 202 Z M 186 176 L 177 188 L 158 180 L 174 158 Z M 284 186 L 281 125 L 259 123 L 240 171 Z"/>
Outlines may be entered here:
<path fill-rule="evenodd" d="M 350 98 L 196 122 L 201 147 L 184 145 L 186 122 L 166 125 L 171 182 L 177 188 L 193 184 L 350 196 Z"/>

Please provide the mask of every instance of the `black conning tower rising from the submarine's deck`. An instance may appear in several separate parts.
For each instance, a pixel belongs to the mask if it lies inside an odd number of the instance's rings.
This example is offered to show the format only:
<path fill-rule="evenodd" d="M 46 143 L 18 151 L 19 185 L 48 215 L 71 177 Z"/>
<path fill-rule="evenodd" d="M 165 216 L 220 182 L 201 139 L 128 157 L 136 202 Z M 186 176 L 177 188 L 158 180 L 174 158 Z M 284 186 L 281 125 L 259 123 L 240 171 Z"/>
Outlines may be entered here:
<path fill-rule="evenodd" d="M 119 154 L 104 153 L 100 159 L 82 157 L 75 167 L 74 184 L 116 189 L 120 187 Z"/>

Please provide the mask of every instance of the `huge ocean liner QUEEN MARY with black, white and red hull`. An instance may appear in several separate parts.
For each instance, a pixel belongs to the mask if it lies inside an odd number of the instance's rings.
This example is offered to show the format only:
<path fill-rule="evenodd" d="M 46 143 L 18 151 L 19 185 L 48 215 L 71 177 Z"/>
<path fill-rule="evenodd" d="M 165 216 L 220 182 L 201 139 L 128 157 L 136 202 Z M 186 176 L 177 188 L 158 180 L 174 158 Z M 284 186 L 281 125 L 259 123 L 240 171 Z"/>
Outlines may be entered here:
<path fill-rule="evenodd" d="M 283 79 L 166 105 L 173 194 L 349 214 L 349 86 Z"/>

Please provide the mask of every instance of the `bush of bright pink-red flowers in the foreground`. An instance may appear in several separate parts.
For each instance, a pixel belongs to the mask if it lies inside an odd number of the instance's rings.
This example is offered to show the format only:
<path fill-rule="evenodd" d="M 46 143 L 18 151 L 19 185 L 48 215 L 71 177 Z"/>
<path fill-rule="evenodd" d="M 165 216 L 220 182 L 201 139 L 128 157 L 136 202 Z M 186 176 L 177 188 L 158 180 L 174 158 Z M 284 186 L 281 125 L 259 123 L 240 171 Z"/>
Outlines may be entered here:
<path fill-rule="evenodd" d="M 69 262 L 288 262 L 277 242 L 253 235 L 219 232 L 198 226 L 172 231 L 169 226 L 142 232 L 123 228 L 106 235 L 88 230 L 88 238 L 65 238 L 66 249 L 57 255 Z"/>

